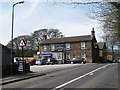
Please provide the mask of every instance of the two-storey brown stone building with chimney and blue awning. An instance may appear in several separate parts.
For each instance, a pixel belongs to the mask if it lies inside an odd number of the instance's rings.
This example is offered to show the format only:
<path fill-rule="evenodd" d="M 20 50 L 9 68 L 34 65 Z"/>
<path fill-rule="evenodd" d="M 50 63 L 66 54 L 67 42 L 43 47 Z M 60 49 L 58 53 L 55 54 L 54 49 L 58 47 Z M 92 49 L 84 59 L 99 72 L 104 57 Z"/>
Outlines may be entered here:
<path fill-rule="evenodd" d="M 40 55 L 55 57 L 57 60 L 85 59 L 97 62 L 99 58 L 94 28 L 91 35 L 46 39 L 40 44 Z"/>

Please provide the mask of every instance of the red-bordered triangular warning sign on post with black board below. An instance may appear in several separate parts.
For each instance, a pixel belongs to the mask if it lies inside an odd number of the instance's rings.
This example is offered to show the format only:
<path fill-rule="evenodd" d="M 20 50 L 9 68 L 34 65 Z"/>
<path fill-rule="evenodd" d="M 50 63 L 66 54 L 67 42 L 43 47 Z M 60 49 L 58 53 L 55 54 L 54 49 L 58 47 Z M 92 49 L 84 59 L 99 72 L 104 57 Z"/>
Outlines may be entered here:
<path fill-rule="evenodd" d="M 24 39 L 20 40 L 19 46 L 22 48 L 22 60 L 18 61 L 18 71 L 23 73 L 23 72 L 25 72 L 23 47 L 26 46 Z"/>

